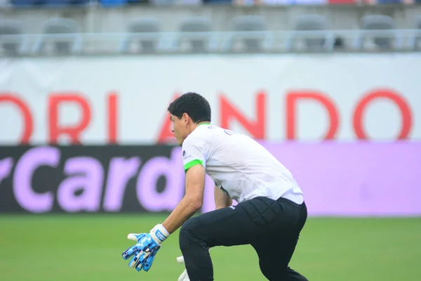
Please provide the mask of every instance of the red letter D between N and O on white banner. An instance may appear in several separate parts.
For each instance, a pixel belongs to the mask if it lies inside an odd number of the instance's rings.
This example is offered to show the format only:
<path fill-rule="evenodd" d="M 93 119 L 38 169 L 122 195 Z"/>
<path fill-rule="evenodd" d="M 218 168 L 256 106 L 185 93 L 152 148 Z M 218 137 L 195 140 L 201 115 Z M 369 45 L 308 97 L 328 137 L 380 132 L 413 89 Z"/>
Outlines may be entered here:
<path fill-rule="evenodd" d="M 336 131 L 338 129 L 338 110 L 336 110 L 333 102 L 322 93 L 316 91 L 293 91 L 286 96 L 286 138 L 288 140 L 295 140 L 295 111 L 298 100 L 309 99 L 316 100 L 321 103 L 326 110 L 330 119 L 329 129 L 324 137 L 326 140 L 335 138 Z"/>

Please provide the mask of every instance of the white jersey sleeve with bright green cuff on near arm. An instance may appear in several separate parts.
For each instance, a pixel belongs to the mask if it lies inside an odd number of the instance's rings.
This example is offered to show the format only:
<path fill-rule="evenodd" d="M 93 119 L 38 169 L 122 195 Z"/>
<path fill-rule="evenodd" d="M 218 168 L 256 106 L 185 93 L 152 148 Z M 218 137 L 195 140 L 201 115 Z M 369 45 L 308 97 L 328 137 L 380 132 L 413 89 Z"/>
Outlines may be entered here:
<path fill-rule="evenodd" d="M 182 143 L 182 164 L 185 171 L 195 165 L 206 168 L 204 142 L 198 138 L 186 138 Z"/>

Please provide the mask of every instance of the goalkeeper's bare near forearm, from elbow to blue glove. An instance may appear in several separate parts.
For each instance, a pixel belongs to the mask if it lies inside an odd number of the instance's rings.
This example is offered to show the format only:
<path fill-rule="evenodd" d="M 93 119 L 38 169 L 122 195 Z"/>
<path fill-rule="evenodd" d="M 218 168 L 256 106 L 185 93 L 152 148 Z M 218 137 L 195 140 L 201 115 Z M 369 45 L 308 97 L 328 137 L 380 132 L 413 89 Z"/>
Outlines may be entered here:
<path fill-rule="evenodd" d="M 163 227 L 168 233 L 173 233 L 178 230 L 185 221 L 196 213 L 201 208 L 202 202 L 197 198 L 183 197 L 177 207 L 171 212 L 170 216 L 162 223 Z"/>

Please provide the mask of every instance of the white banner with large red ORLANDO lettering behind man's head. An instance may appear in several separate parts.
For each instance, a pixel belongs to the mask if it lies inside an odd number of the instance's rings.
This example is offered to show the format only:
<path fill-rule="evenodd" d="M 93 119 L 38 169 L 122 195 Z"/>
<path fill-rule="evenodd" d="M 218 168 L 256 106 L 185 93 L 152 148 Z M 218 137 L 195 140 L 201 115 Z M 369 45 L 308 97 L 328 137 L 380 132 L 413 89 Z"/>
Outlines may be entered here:
<path fill-rule="evenodd" d="M 189 91 L 268 141 L 421 139 L 421 53 L 0 60 L 0 143 L 171 141 Z"/>

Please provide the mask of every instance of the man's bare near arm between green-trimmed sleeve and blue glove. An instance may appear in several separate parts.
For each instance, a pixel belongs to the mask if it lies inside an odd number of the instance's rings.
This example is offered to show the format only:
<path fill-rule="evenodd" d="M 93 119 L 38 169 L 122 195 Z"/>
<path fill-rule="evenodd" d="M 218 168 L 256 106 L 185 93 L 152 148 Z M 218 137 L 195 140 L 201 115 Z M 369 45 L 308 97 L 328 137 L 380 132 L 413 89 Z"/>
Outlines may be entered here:
<path fill-rule="evenodd" d="M 186 192 L 177 207 L 162 223 L 168 233 L 178 230 L 185 221 L 198 211 L 203 204 L 205 190 L 205 168 L 202 165 L 190 167 L 186 173 Z"/>

